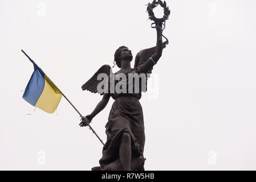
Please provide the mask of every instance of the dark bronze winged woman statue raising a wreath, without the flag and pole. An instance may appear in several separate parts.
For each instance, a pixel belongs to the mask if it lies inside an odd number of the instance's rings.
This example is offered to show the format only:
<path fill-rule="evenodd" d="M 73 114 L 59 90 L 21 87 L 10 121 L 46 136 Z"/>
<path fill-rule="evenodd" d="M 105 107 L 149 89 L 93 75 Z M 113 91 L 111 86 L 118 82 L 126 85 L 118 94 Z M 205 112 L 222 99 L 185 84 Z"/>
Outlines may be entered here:
<path fill-rule="evenodd" d="M 155 18 L 152 9 L 161 5 L 165 8 L 165 15 L 161 19 Z M 105 125 L 105 133 L 107 134 L 107 142 L 103 147 L 103 156 L 100 159 L 99 167 L 94 167 L 92 170 L 101 171 L 115 171 L 115 170 L 144 170 L 144 120 L 143 120 L 143 109 L 140 105 L 141 92 L 147 90 L 147 79 L 146 76 L 146 89 L 141 89 L 143 85 L 142 81 L 139 82 L 139 92 L 136 90 L 136 85 L 132 82 L 132 89 L 129 86 L 125 89 L 121 88 L 122 92 L 116 92 L 112 90 L 111 84 L 114 88 L 118 85 L 120 77 L 116 79 L 118 74 L 123 74 L 127 80 L 123 80 L 123 83 L 129 82 L 128 75 L 136 74 L 141 75 L 143 73 L 151 73 L 153 66 L 158 63 L 162 49 L 168 44 L 168 40 L 162 43 L 162 24 L 168 19 L 170 11 L 166 8 L 166 3 L 161 1 L 153 1 L 148 5 L 149 19 L 154 20 L 156 24 L 157 32 L 157 43 L 156 47 L 143 49 L 137 53 L 135 57 L 134 68 L 131 68 L 132 52 L 125 46 L 119 47 L 115 52 L 115 62 L 117 67 L 121 68 L 118 72 L 112 73 L 112 69 L 109 65 L 103 65 L 95 74 L 88 80 L 83 86 L 83 90 L 89 90 L 92 93 L 100 93 L 103 95 L 102 100 L 97 104 L 94 111 L 86 117 L 82 117 L 80 126 L 88 126 L 96 114 L 98 114 L 108 104 L 109 98 L 112 97 L 113 102 L 111 111 L 109 113 L 108 122 Z M 100 73 L 107 75 L 107 79 L 97 79 Z M 111 82 L 113 75 L 113 82 Z M 99 86 L 100 82 L 103 82 L 102 86 Z M 120 85 L 119 85 L 120 86 Z M 122 85 L 123 86 L 123 85 Z M 122 87 L 121 86 L 121 87 Z M 119 88 L 120 89 L 120 88 Z M 124 92 L 124 90 L 126 92 Z M 131 90 L 133 92 L 131 92 Z"/>

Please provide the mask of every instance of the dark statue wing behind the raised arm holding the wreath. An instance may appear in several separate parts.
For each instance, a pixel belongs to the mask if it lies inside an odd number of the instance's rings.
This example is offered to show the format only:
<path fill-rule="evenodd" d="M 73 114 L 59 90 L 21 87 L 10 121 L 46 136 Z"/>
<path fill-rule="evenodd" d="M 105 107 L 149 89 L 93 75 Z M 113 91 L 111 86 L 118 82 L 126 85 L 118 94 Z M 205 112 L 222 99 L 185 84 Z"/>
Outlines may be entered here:
<path fill-rule="evenodd" d="M 166 47 L 166 41 L 164 43 L 162 43 L 162 48 L 165 48 L 165 47 Z M 155 52 L 156 52 L 156 47 L 151 47 L 151 48 L 148 48 L 148 49 L 143 49 L 140 52 L 138 52 L 136 57 L 135 57 L 134 68 L 138 68 L 140 65 L 143 65 L 149 59 L 149 57 L 151 57 Z M 148 74 L 146 74 L 147 80 L 150 77 L 149 74 L 152 73 L 152 69 L 150 69 L 147 72 Z M 147 82 L 146 82 L 146 91 L 147 91 Z"/>

